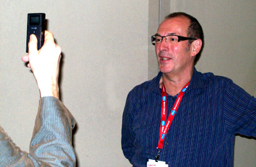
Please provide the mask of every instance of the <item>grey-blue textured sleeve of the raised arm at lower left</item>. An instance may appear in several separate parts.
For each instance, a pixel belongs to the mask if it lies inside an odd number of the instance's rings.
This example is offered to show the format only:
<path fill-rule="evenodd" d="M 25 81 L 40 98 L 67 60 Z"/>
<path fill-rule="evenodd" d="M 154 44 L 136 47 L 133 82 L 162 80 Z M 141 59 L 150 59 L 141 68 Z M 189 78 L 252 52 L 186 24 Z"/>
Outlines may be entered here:
<path fill-rule="evenodd" d="M 72 147 L 74 118 L 54 97 L 40 99 L 29 154 L 0 127 L 0 166 L 76 166 Z"/>

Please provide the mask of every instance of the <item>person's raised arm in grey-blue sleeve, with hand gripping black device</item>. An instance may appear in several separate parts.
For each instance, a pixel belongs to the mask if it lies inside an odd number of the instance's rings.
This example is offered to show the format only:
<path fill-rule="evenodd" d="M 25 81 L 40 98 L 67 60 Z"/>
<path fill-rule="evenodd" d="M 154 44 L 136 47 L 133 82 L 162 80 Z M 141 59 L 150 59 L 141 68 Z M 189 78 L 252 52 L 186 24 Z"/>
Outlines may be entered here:
<path fill-rule="evenodd" d="M 74 118 L 59 100 L 60 54 L 61 48 L 49 31 L 45 31 L 40 50 L 36 36 L 30 36 L 29 52 L 22 61 L 29 61 L 41 96 L 33 137 L 28 154 L 16 147 L 0 127 L 0 166 L 76 166 L 72 147 Z"/>

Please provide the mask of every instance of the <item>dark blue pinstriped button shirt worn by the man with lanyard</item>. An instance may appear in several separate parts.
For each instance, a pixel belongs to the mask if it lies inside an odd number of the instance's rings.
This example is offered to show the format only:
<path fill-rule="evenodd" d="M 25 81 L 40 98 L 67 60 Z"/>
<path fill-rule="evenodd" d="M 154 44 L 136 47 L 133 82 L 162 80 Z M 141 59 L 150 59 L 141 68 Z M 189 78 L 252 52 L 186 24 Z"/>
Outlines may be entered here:
<path fill-rule="evenodd" d="M 162 73 L 132 89 L 122 122 L 122 149 L 133 166 L 157 156 Z M 167 97 L 167 114 L 177 96 Z M 167 115 L 168 117 L 168 115 Z M 232 80 L 194 70 L 159 161 L 169 166 L 233 166 L 235 134 L 256 136 L 256 99 Z"/>

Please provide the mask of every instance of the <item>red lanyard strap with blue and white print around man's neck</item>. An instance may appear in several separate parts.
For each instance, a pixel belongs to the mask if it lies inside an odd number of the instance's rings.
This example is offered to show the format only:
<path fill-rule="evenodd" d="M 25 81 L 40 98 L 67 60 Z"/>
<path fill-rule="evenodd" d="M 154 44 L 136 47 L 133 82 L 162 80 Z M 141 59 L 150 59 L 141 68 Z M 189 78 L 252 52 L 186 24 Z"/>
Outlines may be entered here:
<path fill-rule="evenodd" d="M 190 82 L 190 81 L 189 81 Z M 183 89 L 180 91 L 178 98 L 176 99 L 172 111 L 166 120 L 166 108 L 167 108 L 167 93 L 166 89 L 164 87 L 164 83 L 162 86 L 162 113 L 161 113 L 161 126 L 160 126 L 160 136 L 159 136 L 159 143 L 157 149 L 163 149 L 163 143 L 164 143 L 164 138 L 166 136 L 166 133 L 168 132 L 168 129 L 170 125 L 172 124 L 172 120 L 175 116 L 175 113 L 177 112 L 180 101 L 185 93 L 185 91 L 188 88 L 189 82 L 183 87 Z"/>

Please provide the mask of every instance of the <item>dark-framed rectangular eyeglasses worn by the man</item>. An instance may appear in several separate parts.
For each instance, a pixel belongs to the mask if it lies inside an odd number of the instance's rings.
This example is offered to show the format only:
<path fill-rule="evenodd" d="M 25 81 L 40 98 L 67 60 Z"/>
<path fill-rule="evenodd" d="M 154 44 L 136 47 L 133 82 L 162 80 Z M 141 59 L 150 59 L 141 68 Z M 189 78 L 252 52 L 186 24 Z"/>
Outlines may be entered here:
<path fill-rule="evenodd" d="M 165 39 L 166 43 L 178 43 L 179 41 L 196 40 L 195 38 L 189 38 L 189 37 L 184 37 L 179 35 L 166 35 L 166 36 L 154 35 L 154 36 L 151 36 L 151 42 L 153 45 L 160 44 L 163 41 L 163 38 Z"/>

